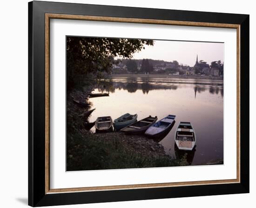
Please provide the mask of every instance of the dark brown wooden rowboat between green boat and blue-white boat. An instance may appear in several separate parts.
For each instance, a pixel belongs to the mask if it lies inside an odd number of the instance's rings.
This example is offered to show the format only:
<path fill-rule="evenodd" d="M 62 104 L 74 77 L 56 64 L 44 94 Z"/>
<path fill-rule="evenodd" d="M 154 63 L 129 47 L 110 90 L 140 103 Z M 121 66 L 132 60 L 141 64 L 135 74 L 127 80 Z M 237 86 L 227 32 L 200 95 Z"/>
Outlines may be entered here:
<path fill-rule="evenodd" d="M 139 120 L 132 125 L 122 128 L 121 131 L 126 133 L 133 133 L 133 134 L 144 133 L 149 126 L 151 126 L 156 122 L 156 120 L 157 120 L 157 116 L 152 117 L 150 115 L 145 119 Z"/>

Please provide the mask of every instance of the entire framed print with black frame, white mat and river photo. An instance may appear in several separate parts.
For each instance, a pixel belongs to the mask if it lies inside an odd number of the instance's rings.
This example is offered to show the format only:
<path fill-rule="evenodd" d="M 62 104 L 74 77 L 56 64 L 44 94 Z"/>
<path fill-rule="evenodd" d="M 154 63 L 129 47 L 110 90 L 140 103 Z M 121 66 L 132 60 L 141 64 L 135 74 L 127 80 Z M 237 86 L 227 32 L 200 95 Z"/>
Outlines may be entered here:
<path fill-rule="evenodd" d="M 249 193 L 249 15 L 28 11 L 30 206 Z"/>

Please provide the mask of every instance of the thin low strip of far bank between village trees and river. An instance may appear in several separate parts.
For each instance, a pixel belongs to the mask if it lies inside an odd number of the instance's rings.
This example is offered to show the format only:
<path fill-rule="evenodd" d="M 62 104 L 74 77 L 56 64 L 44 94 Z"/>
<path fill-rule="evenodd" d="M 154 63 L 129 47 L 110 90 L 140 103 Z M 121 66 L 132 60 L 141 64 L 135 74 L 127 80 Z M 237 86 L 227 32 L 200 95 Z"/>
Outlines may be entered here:
<path fill-rule="evenodd" d="M 154 78 L 184 78 L 184 79 L 215 79 L 223 80 L 221 76 L 202 76 L 202 75 L 158 75 L 158 74 L 112 74 L 111 77 L 154 77 Z"/>

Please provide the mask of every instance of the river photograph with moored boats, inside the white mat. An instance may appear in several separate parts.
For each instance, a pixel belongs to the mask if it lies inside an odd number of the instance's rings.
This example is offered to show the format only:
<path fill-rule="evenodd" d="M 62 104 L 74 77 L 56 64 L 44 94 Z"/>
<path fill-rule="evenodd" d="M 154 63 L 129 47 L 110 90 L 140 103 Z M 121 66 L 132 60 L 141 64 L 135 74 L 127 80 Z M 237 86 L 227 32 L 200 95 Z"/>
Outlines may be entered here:
<path fill-rule="evenodd" d="M 66 36 L 66 170 L 223 165 L 224 43 Z"/>

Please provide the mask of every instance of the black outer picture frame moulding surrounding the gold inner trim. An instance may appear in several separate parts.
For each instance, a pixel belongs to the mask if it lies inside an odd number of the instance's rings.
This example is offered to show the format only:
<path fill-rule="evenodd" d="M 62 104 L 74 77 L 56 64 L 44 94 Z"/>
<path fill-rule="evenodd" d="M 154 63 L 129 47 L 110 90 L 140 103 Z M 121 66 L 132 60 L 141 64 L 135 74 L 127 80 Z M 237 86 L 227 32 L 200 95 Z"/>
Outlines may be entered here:
<path fill-rule="evenodd" d="M 240 25 L 240 183 L 46 193 L 45 14 Z M 28 3 L 28 205 L 33 207 L 249 193 L 249 15 L 59 2 Z"/>

